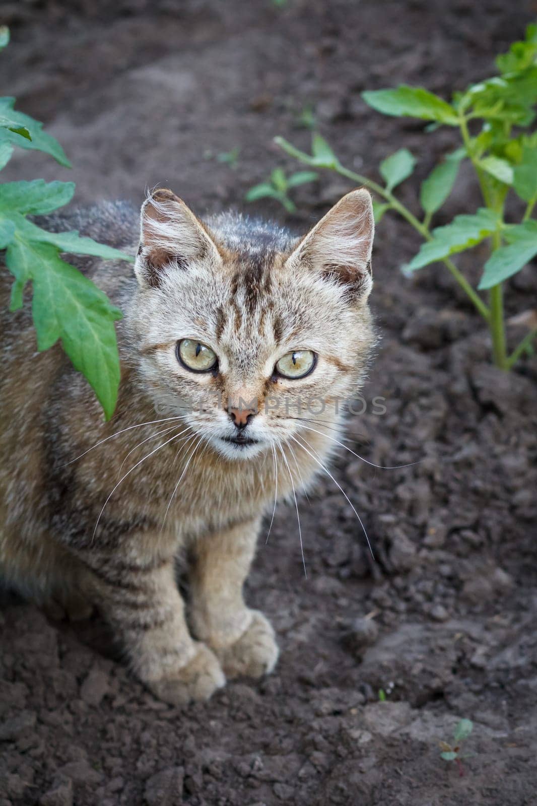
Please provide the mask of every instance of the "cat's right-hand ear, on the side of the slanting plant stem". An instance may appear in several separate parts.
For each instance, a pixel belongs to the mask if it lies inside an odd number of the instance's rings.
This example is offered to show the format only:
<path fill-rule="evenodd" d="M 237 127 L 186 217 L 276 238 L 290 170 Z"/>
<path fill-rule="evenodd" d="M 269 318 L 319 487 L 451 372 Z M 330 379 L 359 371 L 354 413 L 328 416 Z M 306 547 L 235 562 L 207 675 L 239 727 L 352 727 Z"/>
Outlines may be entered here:
<path fill-rule="evenodd" d="M 373 287 L 374 231 L 370 193 L 364 188 L 353 190 L 302 239 L 287 264 L 335 280 L 345 286 L 353 301 L 367 299 Z"/>

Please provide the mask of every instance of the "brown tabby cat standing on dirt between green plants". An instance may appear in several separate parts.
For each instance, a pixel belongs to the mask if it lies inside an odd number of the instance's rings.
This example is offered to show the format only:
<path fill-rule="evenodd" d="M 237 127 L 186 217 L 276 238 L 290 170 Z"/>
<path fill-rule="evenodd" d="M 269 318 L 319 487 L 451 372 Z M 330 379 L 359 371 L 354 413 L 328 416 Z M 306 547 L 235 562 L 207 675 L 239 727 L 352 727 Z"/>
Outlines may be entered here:
<path fill-rule="evenodd" d="M 243 584 L 262 517 L 327 462 L 338 402 L 362 382 L 373 207 L 354 190 L 297 238 L 239 214 L 202 221 L 159 189 L 139 243 L 136 218 L 102 203 L 45 222 L 136 254 L 134 272 L 69 259 L 124 312 L 110 422 L 60 345 L 36 352 L 28 301 L 7 313 L 2 272 L 0 574 L 70 617 L 97 605 L 135 675 L 183 704 L 277 663 Z"/>

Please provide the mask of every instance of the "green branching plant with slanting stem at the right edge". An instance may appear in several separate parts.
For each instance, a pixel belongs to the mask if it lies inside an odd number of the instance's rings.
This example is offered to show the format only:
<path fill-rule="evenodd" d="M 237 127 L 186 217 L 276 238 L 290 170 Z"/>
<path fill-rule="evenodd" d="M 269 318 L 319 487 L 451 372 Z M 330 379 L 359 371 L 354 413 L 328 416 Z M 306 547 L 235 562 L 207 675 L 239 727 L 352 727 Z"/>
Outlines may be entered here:
<path fill-rule="evenodd" d="M 345 168 L 318 134 L 313 136 L 310 154 L 281 137 L 275 138 L 275 142 L 303 164 L 329 168 L 353 184 L 373 190 L 382 200 L 373 202 L 377 224 L 393 210 L 413 226 L 424 243 L 405 267 L 405 273 L 443 262 L 487 322 L 495 364 L 509 369 L 524 352 L 531 351 L 532 340 L 537 336 L 537 330 L 532 331 L 508 355 L 502 304 L 504 280 L 537 256 L 537 221 L 532 218 L 537 204 L 537 132 L 527 131 L 537 113 L 537 25 L 528 26 L 525 39 L 498 56 L 496 64 L 499 75 L 470 85 L 463 93 L 455 93 L 451 102 L 423 87 L 407 85 L 362 93 L 364 101 L 382 114 L 429 121 L 426 131 L 435 131 L 443 125 L 460 131 L 460 147 L 436 165 L 422 182 L 421 219 L 393 194 L 414 171 L 416 160 L 406 148 L 382 160 L 379 171 L 385 185 L 381 185 Z M 431 219 L 452 192 L 462 160 L 470 160 L 476 172 L 484 206 L 457 215 L 448 225 L 431 231 Z M 509 193 L 516 194 L 526 204 L 521 222 L 505 219 Z M 451 256 L 483 241 L 489 243 L 490 256 L 474 289 Z M 478 293 L 485 289 L 489 291 L 488 304 Z"/>

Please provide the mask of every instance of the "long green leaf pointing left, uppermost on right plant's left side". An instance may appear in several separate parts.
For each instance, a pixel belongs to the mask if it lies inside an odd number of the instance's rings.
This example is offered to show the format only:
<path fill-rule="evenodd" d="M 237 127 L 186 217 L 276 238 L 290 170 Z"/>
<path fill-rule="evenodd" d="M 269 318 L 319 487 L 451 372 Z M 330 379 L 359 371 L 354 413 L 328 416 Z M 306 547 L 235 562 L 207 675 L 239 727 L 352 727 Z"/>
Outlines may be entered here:
<path fill-rule="evenodd" d="M 448 102 L 423 87 L 409 87 L 404 84 L 397 89 L 376 89 L 362 93 L 362 98 L 377 112 L 394 117 L 421 118 L 458 126 L 459 118 Z"/>

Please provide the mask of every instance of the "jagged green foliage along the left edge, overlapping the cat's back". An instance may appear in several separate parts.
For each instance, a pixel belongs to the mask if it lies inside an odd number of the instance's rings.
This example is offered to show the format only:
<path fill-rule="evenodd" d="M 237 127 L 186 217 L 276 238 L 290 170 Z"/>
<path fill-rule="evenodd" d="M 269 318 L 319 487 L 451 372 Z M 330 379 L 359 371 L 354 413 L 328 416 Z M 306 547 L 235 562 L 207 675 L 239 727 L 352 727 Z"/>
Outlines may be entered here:
<path fill-rule="evenodd" d="M 9 33 L 0 29 L 0 49 Z M 3 43 L 3 45 L 2 45 Z M 0 169 L 15 146 L 53 156 L 67 167 L 69 160 L 42 124 L 15 112 L 14 98 L 0 98 Z M 48 232 L 27 215 L 44 215 L 71 201 L 73 182 L 34 181 L 0 184 L 0 249 L 15 278 L 10 310 L 23 305 L 27 284 L 32 285 L 31 311 L 37 348 L 48 350 L 60 340 L 73 366 L 82 372 L 102 405 L 106 418 L 114 413 L 119 388 L 119 354 L 114 322 L 121 311 L 106 294 L 60 255 L 94 255 L 106 260 L 132 260 L 123 252 L 81 238 L 76 231 Z"/>

